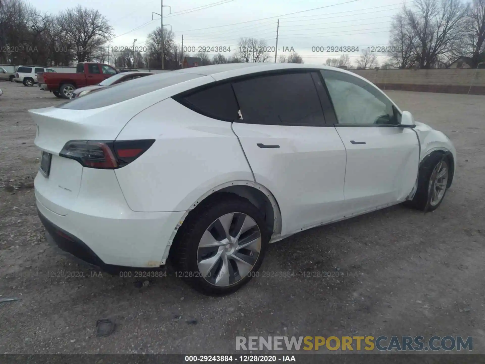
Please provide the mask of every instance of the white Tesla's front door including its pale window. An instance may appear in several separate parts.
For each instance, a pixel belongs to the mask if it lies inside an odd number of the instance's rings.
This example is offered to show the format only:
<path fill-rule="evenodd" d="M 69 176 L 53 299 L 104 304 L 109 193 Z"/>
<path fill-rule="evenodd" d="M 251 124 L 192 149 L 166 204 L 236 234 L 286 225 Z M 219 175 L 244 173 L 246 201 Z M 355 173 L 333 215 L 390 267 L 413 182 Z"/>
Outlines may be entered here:
<path fill-rule="evenodd" d="M 399 127 L 399 111 L 371 83 L 343 72 L 321 72 L 347 150 L 347 208 L 359 213 L 404 200 L 418 175 L 416 133 Z"/>

